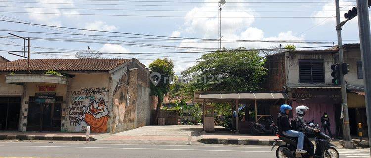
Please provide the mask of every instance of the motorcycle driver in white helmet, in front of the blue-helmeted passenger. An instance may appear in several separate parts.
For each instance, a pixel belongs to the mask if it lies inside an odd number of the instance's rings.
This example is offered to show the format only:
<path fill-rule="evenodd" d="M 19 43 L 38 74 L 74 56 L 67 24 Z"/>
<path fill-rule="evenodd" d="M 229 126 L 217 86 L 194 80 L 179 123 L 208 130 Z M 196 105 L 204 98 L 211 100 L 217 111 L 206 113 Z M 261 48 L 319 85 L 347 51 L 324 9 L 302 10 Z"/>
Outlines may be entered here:
<path fill-rule="evenodd" d="M 295 127 L 292 127 L 293 129 L 303 132 L 304 133 L 304 144 L 307 145 L 307 150 L 310 155 L 309 158 L 314 158 L 314 145 L 313 143 L 308 139 L 307 136 L 305 136 L 305 133 L 318 133 L 320 132 L 318 129 L 313 129 L 311 127 L 308 127 L 307 124 L 304 121 L 304 115 L 305 112 L 308 111 L 309 108 L 304 105 L 300 105 L 295 108 L 295 112 L 297 116 L 293 119 L 292 125 Z"/>

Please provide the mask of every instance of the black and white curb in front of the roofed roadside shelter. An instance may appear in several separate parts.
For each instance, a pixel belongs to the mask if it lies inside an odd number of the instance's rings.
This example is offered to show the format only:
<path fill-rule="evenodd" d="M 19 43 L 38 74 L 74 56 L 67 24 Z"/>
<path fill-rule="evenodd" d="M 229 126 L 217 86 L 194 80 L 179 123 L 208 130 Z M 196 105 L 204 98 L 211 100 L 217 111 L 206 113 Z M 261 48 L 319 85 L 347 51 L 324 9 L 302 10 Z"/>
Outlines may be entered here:
<path fill-rule="evenodd" d="M 272 145 L 275 140 L 269 139 L 218 139 L 218 138 L 202 138 L 198 142 L 204 144 L 238 144 L 238 145 Z M 283 141 L 279 141 L 277 145 L 284 144 Z"/>

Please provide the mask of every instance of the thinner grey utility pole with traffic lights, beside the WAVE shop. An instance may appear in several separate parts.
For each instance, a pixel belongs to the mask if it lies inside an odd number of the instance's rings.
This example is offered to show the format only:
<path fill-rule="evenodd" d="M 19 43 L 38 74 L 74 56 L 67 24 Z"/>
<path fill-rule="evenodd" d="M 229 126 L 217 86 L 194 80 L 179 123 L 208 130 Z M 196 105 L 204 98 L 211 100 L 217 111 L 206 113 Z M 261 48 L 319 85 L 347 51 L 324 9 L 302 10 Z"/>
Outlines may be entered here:
<path fill-rule="evenodd" d="M 341 39 L 341 26 L 340 26 L 340 4 L 339 0 L 335 0 L 336 3 L 336 30 L 337 30 L 337 40 L 339 44 L 339 62 L 340 70 L 342 70 L 342 63 L 344 63 L 343 55 L 343 44 Z M 344 134 L 344 148 L 353 148 L 352 137 L 350 136 L 349 128 L 349 116 L 348 116 L 348 99 L 347 99 L 347 89 L 345 84 L 345 78 L 342 71 L 340 71 L 340 81 L 341 81 L 341 100 L 342 100 L 342 111 L 343 111 L 343 134 Z"/>

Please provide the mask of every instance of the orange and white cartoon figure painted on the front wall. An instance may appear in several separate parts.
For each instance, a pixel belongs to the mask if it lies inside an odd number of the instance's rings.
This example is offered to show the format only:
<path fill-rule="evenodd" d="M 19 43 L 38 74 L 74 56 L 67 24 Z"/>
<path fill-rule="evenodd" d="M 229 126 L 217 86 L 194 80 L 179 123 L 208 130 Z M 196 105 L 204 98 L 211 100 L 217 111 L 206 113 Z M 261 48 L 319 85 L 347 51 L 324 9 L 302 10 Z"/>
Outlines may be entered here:
<path fill-rule="evenodd" d="M 103 98 L 100 98 L 99 101 L 91 99 L 89 106 L 83 107 L 85 112 L 82 118 L 88 125 L 90 125 L 92 132 L 107 132 L 107 123 L 109 118 L 109 111 L 107 108 L 107 104 Z"/>

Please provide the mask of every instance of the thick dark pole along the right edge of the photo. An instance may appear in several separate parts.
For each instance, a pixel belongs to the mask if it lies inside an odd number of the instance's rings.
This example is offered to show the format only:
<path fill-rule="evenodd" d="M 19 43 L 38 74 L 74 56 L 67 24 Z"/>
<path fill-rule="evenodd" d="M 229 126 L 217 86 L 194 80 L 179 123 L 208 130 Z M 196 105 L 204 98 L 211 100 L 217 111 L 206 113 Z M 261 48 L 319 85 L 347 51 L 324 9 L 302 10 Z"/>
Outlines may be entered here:
<path fill-rule="evenodd" d="M 369 142 L 371 142 L 371 37 L 368 9 L 368 0 L 357 0 L 357 15 L 361 45 L 363 82 L 365 84 L 367 128 L 369 134 Z"/>

